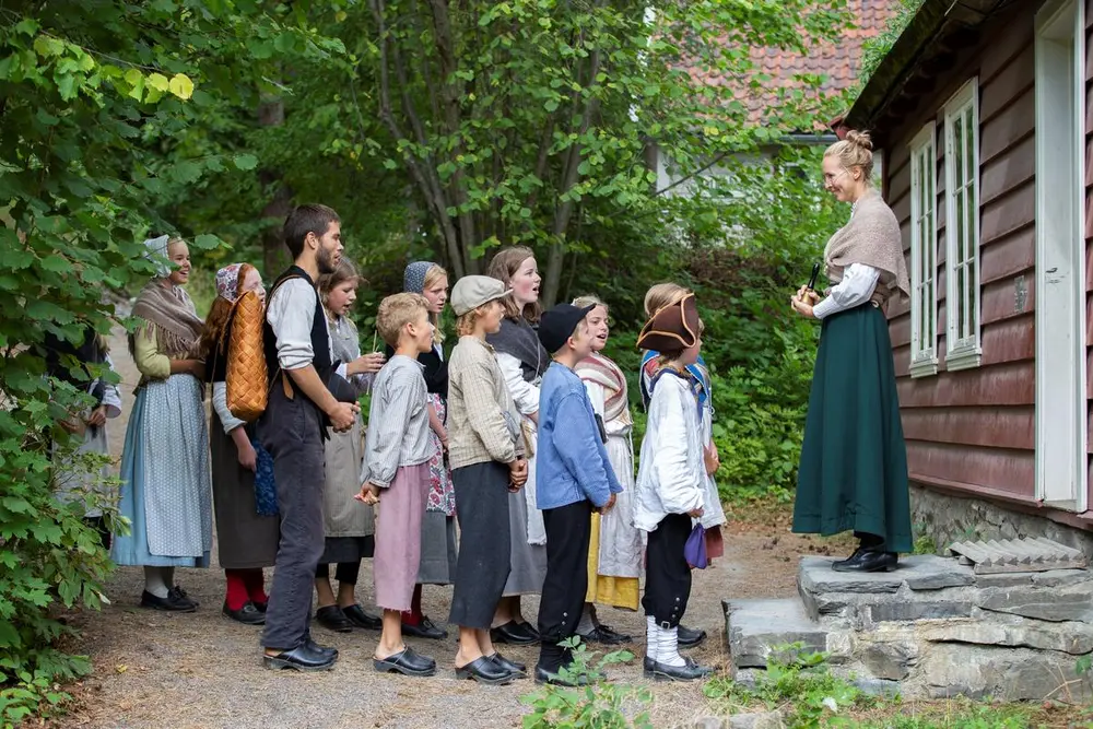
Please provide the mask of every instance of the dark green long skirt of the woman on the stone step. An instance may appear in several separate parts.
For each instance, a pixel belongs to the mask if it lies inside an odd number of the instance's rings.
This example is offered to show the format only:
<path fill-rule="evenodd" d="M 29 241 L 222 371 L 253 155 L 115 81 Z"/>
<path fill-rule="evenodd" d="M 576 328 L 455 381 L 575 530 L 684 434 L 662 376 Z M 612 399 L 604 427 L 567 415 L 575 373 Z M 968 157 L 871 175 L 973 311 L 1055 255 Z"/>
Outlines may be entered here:
<path fill-rule="evenodd" d="M 907 448 L 888 319 L 872 304 L 823 321 L 794 505 L 794 531 L 853 529 L 910 552 Z"/>

